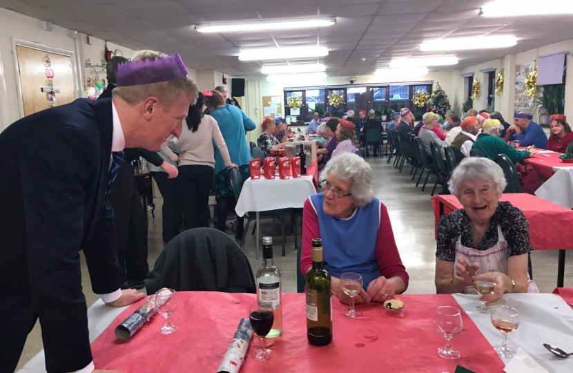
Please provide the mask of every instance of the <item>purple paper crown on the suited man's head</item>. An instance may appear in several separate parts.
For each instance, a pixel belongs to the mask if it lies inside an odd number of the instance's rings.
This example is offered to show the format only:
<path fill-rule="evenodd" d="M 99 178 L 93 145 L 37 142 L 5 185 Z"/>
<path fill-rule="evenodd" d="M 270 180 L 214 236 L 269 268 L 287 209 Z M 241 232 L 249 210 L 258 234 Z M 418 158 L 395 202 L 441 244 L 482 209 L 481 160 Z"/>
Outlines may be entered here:
<path fill-rule="evenodd" d="M 126 61 L 117 66 L 116 82 L 118 87 L 140 86 L 167 82 L 187 75 L 179 53 L 167 57 L 156 57 L 151 61 Z"/>

